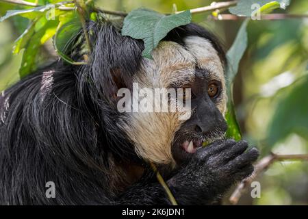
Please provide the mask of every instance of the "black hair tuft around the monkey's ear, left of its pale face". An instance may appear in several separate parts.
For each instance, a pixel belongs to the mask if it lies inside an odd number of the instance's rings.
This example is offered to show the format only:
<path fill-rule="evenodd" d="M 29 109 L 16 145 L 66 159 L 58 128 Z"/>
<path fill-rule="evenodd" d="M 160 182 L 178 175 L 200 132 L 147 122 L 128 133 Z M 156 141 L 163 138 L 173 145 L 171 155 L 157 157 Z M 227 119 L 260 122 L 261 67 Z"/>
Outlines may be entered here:
<path fill-rule="evenodd" d="M 122 36 L 112 25 L 94 23 L 91 27 L 95 45 L 90 58 L 90 74 L 105 98 L 129 88 L 142 61 L 143 44 Z"/>

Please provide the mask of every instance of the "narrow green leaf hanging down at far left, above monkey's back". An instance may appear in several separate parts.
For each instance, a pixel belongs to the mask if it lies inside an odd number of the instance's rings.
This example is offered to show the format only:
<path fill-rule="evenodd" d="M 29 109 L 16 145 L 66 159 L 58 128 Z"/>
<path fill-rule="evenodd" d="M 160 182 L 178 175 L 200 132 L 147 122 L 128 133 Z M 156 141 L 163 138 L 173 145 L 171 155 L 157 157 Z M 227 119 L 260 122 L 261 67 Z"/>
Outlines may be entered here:
<path fill-rule="evenodd" d="M 32 71 L 36 70 L 36 56 L 42 45 L 42 38 L 45 38 L 45 34 L 50 36 L 48 33 L 49 29 L 57 27 L 57 20 L 50 20 L 41 27 L 38 31 L 31 36 L 31 40 L 27 42 L 25 46 L 25 51 L 23 52 L 23 59 L 21 61 L 21 68 L 19 69 L 19 75 L 21 78 L 29 75 Z"/>

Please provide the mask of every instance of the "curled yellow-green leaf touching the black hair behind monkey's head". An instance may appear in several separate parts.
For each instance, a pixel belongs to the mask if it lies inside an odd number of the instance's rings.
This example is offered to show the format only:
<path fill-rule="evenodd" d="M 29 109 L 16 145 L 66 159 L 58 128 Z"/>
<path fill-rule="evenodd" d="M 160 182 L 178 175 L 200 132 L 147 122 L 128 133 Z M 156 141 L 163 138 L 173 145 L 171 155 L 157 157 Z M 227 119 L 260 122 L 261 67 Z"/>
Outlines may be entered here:
<path fill-rule="evenodd" d="M 57 32 L 53 38 L 53 46 L 63 60 L 70 64 L 77 64 L 72 58 L 66 55 L 68 46 L 82 28 L 79 17 L 76 12 L 63 14 L 59 18 L 60 23 L 57 26 Z"/>

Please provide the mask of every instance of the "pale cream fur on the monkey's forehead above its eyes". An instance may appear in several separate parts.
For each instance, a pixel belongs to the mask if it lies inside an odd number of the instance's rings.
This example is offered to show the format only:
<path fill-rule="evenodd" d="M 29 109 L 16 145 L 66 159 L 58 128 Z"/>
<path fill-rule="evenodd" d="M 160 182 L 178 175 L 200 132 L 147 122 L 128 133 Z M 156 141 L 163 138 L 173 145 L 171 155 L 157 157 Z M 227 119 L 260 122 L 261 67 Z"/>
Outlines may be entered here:
<path fill-rule="evenodd" d="M 209 40 L 188 36 L 184 45 L 172 41 L 159 42 L 153 51 L 153 60 L 144 59 L 142 68 L 153 86 L 180 86 L 192 81 L 196 68 L 206 77 L 224 82 L 224 68 L 216 49 Z"/>

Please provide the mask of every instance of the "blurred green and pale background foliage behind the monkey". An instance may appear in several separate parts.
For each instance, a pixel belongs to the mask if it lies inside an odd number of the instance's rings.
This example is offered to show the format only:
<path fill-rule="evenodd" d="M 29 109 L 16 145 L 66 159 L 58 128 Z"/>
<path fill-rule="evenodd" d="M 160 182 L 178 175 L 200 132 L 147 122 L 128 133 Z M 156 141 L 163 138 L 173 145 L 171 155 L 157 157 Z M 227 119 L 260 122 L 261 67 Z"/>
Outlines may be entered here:
<path fill-rule="evenodd" d="M 209 5 L 211 1 L 97 1 L 105 10 L 127 12 L 140 7 L 172 12 L 173 3 L 177 10 L 187 10 Z M 0 16 L 14 8 L 16 6 L 0 2 Z M 286 13 L 308 14 L 308 1 L 293 0 Z M 210 12 L 194 15 L 193 21 L 213 31 L 227 51 L 242 21 L 213 21 L 209 15 Z M 12 47 L 27 22 L 25 18 L 16 17 L 0 23 L 0 91 L 19 79 L 22 53 L 13 55 Z M 262 156 L 270 151 L 308 153 L 308 18 L 251 21 L 247 30 L 248 49 L 233 86 L 243 138 L 261 149 Z M 42 47 L 40 54 L 40 63 L 55 59 L 50 42 Z M 261 183 L 261 198 L 251 198 L 247 191 L 239 204 L 308 204 L 307 162 L 277 162 L 256 180 Z M 229 204 L 227 199 L 225 204 Z"/>

